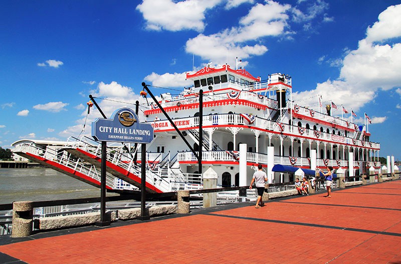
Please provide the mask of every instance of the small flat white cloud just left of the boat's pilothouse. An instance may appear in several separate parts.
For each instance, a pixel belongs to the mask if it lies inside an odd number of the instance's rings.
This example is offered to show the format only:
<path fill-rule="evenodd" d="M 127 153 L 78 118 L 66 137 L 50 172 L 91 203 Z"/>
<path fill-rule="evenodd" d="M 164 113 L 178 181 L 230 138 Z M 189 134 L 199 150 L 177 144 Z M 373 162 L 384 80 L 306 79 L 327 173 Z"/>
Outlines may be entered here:
<path fill-rule="evenodd" d="M 192 81 L 185 80 L 186 73 L 165 73 L 159 75 L 151 73 L 145 77 L 145 81 L 151 82 L 154 86 L 159 87 L 188 87 L 192 85 Z"/>

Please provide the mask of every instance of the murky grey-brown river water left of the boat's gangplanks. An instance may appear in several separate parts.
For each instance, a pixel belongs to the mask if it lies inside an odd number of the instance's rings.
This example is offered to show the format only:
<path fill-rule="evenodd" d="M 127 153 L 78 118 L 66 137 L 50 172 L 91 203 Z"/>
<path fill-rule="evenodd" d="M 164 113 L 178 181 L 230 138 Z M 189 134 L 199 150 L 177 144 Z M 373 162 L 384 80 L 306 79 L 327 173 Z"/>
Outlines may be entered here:
<path fill-rule="evenodd" d="M 100 188 L 53 169 L 0 168 L 0 204 L 100 197 Z"/>

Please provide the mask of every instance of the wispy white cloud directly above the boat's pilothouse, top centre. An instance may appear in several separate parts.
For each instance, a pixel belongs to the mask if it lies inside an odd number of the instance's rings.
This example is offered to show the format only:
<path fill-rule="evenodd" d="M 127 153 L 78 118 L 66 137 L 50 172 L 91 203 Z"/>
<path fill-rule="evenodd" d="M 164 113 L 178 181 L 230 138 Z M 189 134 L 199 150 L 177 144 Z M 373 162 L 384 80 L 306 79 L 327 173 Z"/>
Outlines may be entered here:
<path fill-rule="evenodd" d="M 199 34 L 189 39 L 185 44 L 185 51 L 200 56 L 205 61 L 216 65 L 223 65 L 228 61 L 233 65 L 238 57 L 247 65 L 245 59 L 251 56 L 260 56 L 268 51 L 263 44 L 251 45 L 247 42 L 257 41 L 267 36 L 288 36 L 286 31 L 287 20 L 291 9 L 290 5 L 280 5 L 274 1 L 266 1 L 255 5 L 249 13 L 240 19 L 240 25 L 230 30 L 226 29 L 209 36 Z"/>

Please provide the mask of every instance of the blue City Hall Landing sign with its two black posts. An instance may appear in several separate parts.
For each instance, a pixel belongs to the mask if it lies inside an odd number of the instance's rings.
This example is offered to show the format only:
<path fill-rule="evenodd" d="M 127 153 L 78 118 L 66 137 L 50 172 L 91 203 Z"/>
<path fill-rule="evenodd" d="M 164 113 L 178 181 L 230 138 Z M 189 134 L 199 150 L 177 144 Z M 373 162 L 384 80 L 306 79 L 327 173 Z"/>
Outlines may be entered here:
<path fill-rule="evenodd" d="M 110 225 L 106 220 L 106 148 L 107 142 L 141 143 L 141 217 L 149 219 L 145 211 L 146 201 L 146 144 L 153 141 L 153 127 L 150 124 L 139 123 L 136 113 L 129 108 L 116 110 L 110 119 L 98 118 L 92 123 L 92 137 L 102 142 L 101 162 L 101 197 L 100 197 L 100 222 L 98 226 Z"/>

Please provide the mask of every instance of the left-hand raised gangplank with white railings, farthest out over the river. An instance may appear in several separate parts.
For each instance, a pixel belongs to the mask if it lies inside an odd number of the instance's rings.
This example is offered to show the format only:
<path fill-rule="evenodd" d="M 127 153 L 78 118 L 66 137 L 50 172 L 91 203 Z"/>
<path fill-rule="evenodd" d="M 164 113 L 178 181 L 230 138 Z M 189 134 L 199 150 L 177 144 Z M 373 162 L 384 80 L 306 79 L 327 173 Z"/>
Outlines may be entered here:
<path fill-rule="evenodd" d="M 33 143 L 24 143 L 16 145 L 13 152 L 90 185 L 100 187 L 100 171 L 92 164 L 67 155 L 62 149 L 52 148 L 51 146 L 44 149 L 35 146 Z M 106 173 L 106 188 L 108 190 L 114 189 L 115 182 L 115 177 Z"/>

